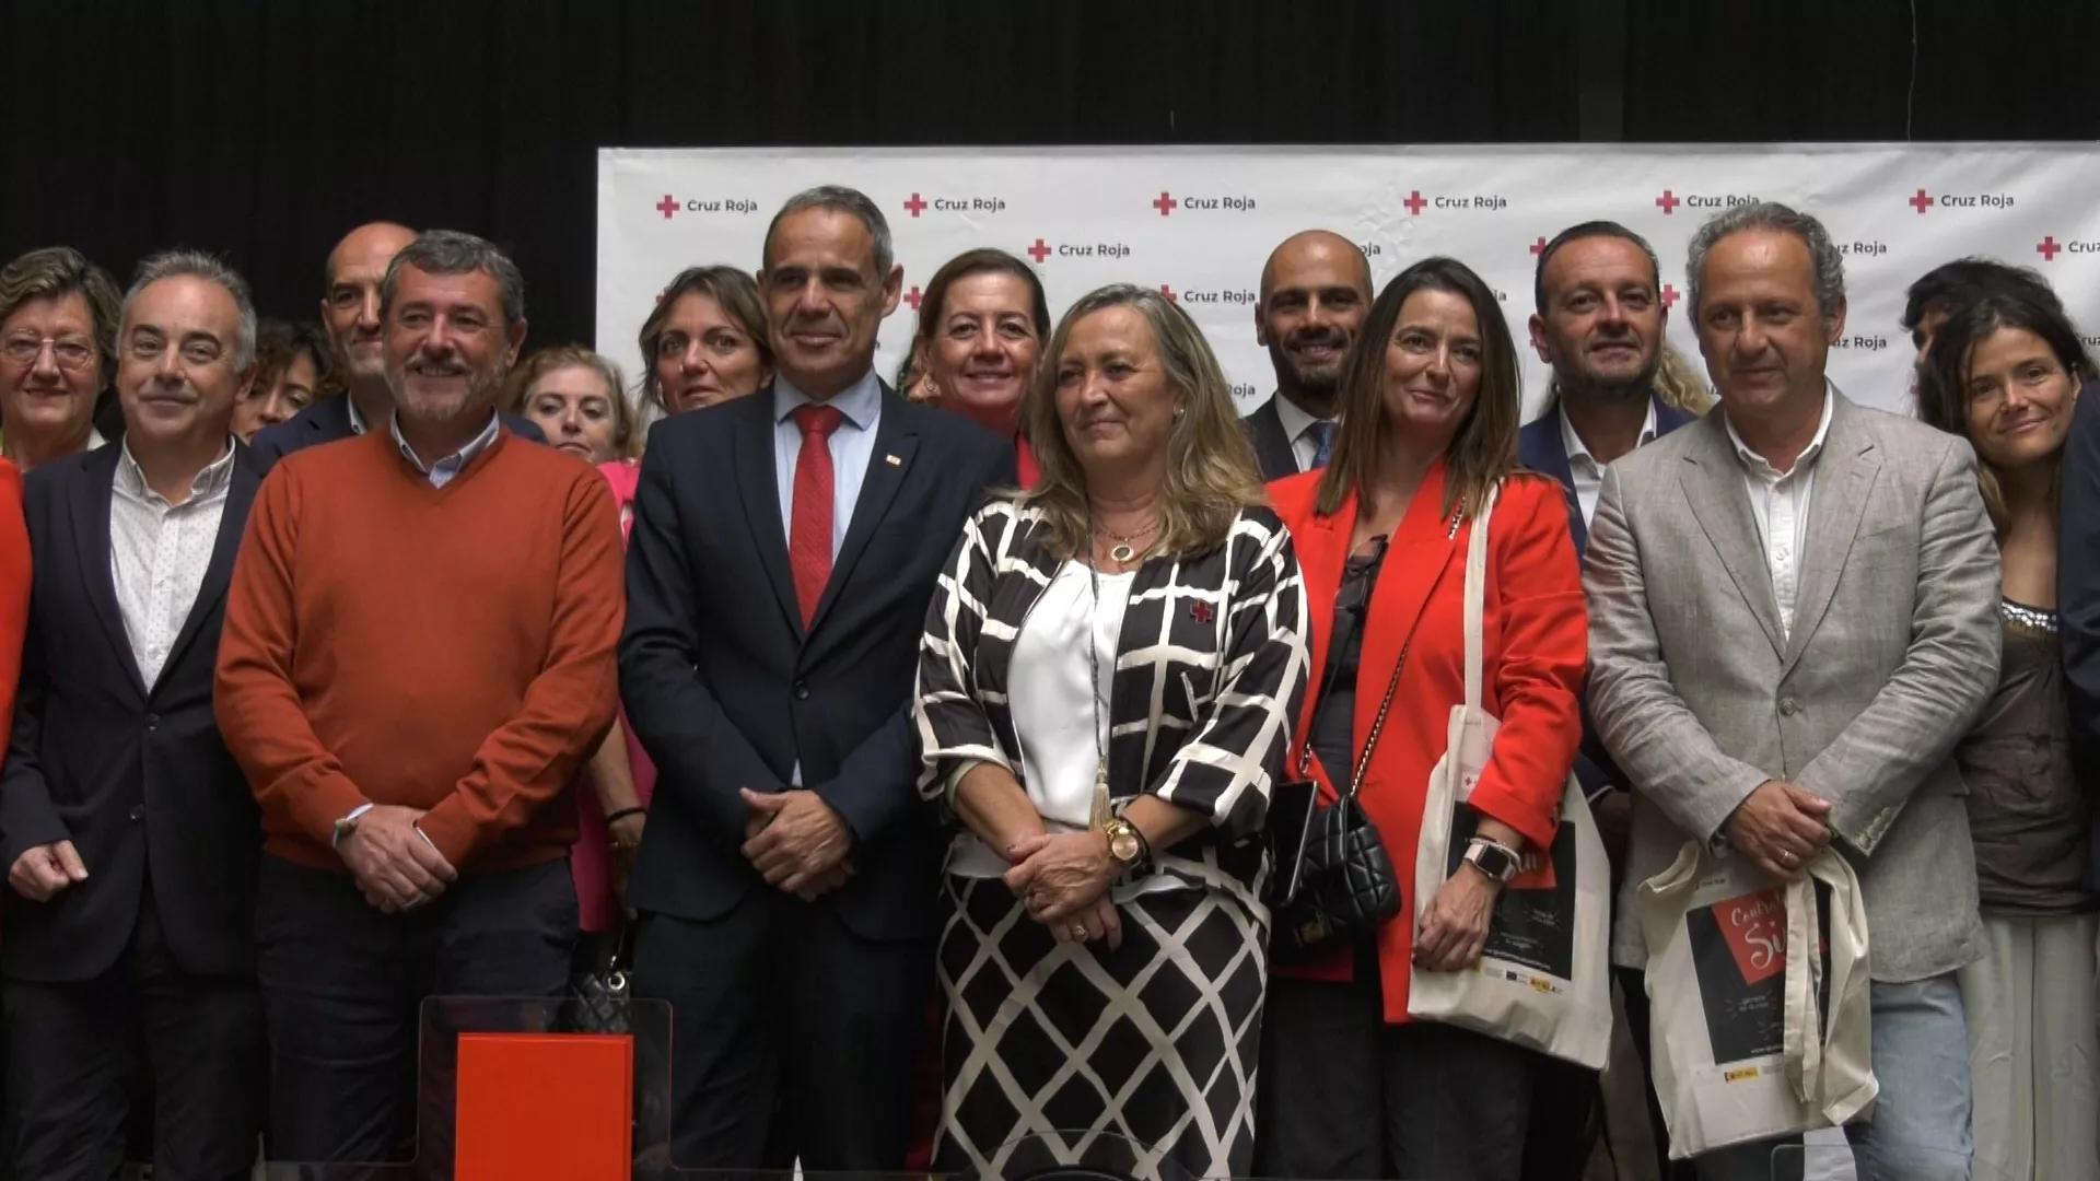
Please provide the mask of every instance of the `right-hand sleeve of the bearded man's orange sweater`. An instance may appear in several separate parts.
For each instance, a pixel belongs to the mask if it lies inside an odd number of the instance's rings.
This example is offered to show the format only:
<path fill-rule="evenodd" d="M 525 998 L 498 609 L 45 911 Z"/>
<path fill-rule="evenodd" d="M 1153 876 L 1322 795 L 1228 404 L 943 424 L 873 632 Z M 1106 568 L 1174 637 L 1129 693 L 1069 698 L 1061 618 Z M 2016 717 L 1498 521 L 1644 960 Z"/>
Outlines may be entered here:
<path fill-rule="evenodd" d="M 454 866 L 561 794 L 620 710 L 617 649 L 626 618 L 620 511 L 598 473 L 586 467 L 563 504 L 561 565 L 552 574 L 552 635 L 523 708 L 481 744 L 475 767 L 420 822 Z"/>

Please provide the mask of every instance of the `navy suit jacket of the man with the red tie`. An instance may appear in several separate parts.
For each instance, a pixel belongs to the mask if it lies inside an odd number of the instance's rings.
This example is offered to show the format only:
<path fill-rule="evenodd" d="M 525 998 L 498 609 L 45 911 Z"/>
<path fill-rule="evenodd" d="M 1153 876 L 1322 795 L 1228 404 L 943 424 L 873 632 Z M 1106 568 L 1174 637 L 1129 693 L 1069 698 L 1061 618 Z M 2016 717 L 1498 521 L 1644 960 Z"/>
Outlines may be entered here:
<path fill-rule="evenodd" d="M 918 794 L 911 693 L 934 580 L 1014 441 L 882 389 L 846 540 L 808 628 L 773 473 L 773 387 L 649 433 L 628 538 L 620 698 L 657 765 L 636 910 L 710 920 L 773 889 L 743 859 L 739 788 L 796 763 L 855 836 L 836 906 L 865 939 L 937 933 L 943 834 Z"/>

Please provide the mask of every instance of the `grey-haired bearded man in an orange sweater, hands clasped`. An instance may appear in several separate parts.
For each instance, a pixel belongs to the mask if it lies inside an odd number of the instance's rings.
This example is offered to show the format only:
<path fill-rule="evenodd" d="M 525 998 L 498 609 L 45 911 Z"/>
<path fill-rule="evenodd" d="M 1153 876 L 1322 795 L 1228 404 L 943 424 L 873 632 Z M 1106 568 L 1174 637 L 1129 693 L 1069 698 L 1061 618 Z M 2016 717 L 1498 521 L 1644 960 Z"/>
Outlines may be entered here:
<path fill-rule="evenodd" d="M 613 500 L 496 416 L 525 343 L 517 267 L 424 233 L 388 263 L 380 322 L 395 410 L 262 485 L 218 656 L 218 725 L 262 805 L 279 1160 L 418 1149 L 426 996 L 563 994 L 569 784 L 615 708 Z M 422 1072 L 443 1086 L 443 1049 Z M 449 1177 L 449 1120 L 420 1139 Z"/>

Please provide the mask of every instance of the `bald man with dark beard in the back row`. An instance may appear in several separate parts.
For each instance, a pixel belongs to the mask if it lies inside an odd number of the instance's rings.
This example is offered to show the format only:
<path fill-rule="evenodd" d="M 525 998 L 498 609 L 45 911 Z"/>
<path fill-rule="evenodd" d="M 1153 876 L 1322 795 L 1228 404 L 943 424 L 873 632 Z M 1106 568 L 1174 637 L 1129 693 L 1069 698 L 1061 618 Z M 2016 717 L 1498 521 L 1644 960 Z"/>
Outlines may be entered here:
<path fill-rule="evenodd" d="M 1277 393 L 1241 420 L 1262 479 L 1327 467 L 1334 387 L 1369 309 L 1371 265 L 1340 233 L 1294 233 L 1268 256 L 1254 338 L 1277 368 Z"/>

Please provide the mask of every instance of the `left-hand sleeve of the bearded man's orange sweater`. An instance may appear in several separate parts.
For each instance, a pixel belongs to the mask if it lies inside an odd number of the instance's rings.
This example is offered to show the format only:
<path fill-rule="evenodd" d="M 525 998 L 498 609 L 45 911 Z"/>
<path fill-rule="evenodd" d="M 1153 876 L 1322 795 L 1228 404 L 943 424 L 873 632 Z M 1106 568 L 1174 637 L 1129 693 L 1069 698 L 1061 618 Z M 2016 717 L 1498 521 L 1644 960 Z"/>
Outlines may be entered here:
<path fill-rule="evenodd" d="M 212 710 L 262 815 L 328 849 L 336 822 L 370 801 L 313 731 L 292 681 L 300 494 L 298 467 L 284 464 L 262 481 L 248 511 L 227 586 Z"/>

